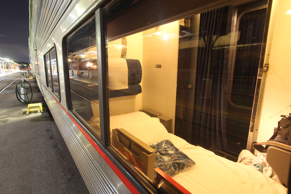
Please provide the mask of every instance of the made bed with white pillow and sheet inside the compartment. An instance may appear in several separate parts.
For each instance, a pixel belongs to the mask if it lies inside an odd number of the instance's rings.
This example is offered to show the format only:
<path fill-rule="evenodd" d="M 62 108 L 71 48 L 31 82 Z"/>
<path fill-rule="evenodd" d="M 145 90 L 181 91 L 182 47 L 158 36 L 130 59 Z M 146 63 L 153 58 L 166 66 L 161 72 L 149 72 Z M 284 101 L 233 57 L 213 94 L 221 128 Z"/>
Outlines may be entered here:
<path fill-rule="evenodd" d="M 99 118 L 92 126 L 99 128 Z M 169 140 L 181 152 L 194 161 L 172 179 L 191 193 L 287 193 L 287 188 L 263 173 L 241 163 L 215 155 L 199 146 L 168 133 L 159 118 L 143 112 L 134 112 L 110 117 L 110 133 L 124 129 L 147 145 Z M 156 151 L 157 153 L 157 151 Z M 157 155 L 156 155 L 157 163 Z M 153 169 L 150 169 L 153 171 Z"/>

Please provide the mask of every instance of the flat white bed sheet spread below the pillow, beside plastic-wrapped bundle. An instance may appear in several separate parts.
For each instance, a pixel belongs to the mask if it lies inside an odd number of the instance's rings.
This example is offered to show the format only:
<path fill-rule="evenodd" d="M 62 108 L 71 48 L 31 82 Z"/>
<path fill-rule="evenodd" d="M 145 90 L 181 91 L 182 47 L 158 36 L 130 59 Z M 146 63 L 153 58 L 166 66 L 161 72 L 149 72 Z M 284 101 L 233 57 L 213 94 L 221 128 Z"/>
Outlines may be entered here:
<path fill-rule="evenodd" d="M 287 188 L 258 170 L 170 136 L 172 143 L 196 163 L 172 177 L 191 193 L 287 193 Z"/>

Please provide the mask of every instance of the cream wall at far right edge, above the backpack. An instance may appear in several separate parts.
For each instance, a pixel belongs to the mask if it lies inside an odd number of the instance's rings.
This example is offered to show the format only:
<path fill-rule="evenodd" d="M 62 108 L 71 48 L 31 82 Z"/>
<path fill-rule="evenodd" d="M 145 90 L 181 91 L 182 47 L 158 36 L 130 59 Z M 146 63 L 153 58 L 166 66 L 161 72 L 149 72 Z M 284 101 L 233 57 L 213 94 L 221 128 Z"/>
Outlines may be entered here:
<path fill-rule="evenodd" d="M 269 29 L 274 31 L 274 37 L 257 142 L 268 140 L 281 119 L 280 115 L 291 113 L 291 15 L 285 14 L 291 9 L 291 1 L 275 0 L 273 3 L 278 3 L 278 10 L 273 16 L 276 17 L 274 29 Z"/>

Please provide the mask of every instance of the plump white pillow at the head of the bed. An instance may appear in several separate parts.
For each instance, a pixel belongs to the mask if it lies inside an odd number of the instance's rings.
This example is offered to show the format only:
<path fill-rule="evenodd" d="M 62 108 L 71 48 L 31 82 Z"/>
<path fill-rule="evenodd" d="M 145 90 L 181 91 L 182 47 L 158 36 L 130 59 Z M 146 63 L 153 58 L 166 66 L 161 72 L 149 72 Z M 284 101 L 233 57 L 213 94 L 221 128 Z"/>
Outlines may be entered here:
<path fill-rule="evenodd" d="M 111 131 L 116 128 L 125 129 L 147 145 L 159 143 L 165 139 L 172 141 L 167 129 L 162 123 L 160 123 L 159 118 L 151 117 L 140 121 L 123 122 L 110 125 Z"/>

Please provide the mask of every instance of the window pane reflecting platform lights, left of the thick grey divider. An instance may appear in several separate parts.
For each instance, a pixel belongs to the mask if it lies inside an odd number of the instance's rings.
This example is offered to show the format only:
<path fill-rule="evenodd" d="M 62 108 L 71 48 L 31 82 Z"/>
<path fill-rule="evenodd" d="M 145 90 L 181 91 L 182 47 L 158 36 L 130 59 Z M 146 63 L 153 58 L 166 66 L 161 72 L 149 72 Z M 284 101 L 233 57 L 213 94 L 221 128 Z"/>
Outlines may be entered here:
<path fill-rule="evenodd" d="M 95 18 L 67 38 L 67 49 L 72 111 L 100 136 Z"/>

